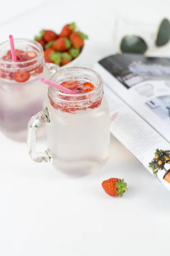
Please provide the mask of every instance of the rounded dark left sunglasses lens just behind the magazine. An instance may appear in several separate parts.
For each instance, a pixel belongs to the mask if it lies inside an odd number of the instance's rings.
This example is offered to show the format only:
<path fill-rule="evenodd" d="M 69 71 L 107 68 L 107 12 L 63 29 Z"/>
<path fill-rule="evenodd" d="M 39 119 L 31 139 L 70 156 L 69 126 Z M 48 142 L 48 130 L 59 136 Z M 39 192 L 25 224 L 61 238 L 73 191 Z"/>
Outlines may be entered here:
<path fill-rule="evenodd" d="M 120 49 L 122 52 L 143 54 L 147 50 L 147 44 L 139 36 L 126 35 L 122 38 Z"/>

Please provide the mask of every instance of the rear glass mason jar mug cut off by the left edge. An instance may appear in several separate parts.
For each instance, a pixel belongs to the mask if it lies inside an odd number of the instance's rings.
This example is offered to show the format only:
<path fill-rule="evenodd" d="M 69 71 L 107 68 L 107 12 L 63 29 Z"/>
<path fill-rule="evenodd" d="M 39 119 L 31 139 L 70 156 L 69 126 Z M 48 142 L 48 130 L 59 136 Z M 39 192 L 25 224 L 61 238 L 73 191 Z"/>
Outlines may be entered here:
<path fill-rule="evenodd" d="M 42 46 L 28 39 L 14 39 L 17 62 L 9 41 L 0 44 L 0 131 L 8 138 L 26 141 L 31 116 L 43 108 L 49 78 Z M 41 134 L 39 134 L 41 135 Z"/>

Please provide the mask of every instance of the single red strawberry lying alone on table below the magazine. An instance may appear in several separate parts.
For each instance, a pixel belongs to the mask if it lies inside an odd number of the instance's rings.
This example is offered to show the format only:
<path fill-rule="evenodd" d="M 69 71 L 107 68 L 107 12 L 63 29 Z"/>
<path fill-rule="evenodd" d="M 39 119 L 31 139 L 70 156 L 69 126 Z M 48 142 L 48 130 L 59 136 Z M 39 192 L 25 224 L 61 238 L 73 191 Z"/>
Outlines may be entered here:
<path fill-rule="evenodd" d="M 108 195 L 120 196 L 127 190 L 124 179 L 111 178 L 102 182 L 102 187 Z"/>

